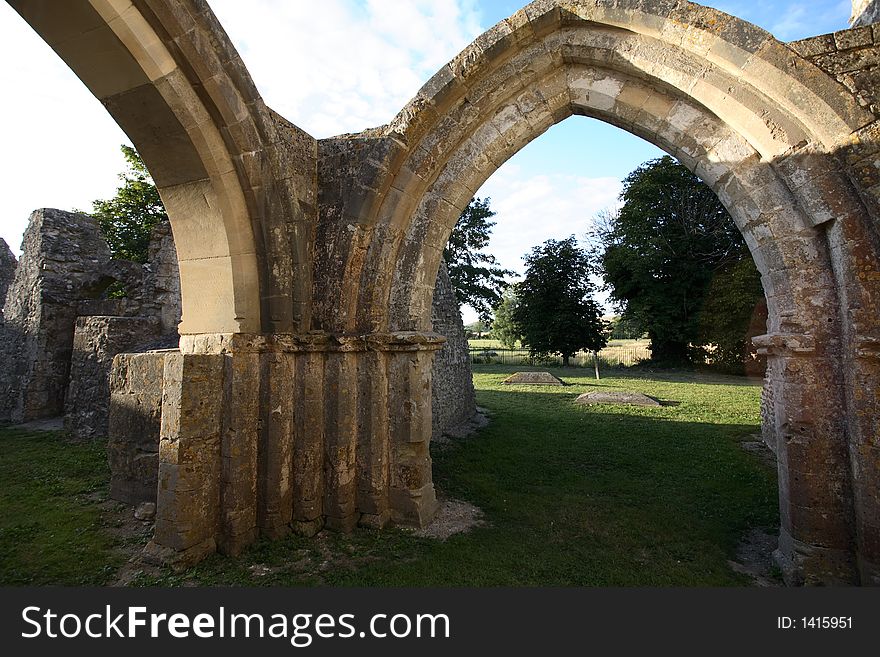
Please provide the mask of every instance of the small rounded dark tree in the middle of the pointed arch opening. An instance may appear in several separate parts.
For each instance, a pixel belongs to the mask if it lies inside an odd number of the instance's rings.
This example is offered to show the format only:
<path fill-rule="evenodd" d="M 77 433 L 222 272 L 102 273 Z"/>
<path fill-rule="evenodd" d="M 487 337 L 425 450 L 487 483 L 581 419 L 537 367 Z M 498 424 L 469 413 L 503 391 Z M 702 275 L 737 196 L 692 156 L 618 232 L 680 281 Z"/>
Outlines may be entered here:
<path fill-rule="evenodd" d="M 526 275 L 516 286 L 519 305 L 513 311 L 522 342 L 533 356 L 557 353 L 562 364 L 584 349 L 605 346 L 605 327 L 593 300 L 592 271 L 586 251 L 574 235 L 547 240 L 523 256 Z"/>

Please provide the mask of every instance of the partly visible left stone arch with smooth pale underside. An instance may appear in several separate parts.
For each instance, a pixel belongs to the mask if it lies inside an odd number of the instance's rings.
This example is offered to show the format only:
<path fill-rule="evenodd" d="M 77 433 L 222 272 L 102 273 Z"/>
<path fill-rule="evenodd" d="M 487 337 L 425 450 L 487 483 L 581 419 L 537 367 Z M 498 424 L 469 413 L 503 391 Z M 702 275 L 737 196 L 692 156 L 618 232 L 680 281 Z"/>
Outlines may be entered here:
<path fill-rule="evenodd" d="M 306 231 L 279 231 L 264 219 L 271 208 L 282 225 L 311 221 L 279 199 L 298 196 L 285 189 L 293 140 L 282 133 L 297 133 L 307 151 L 314 140 L 266 108 L 208 6 L 11 4 L 101 101 L 153 175 L 180 262 L 180 332 L 299 328 L 310 280 L 305 240 L 294 233 Z M 279 269 L 297 275 L 273 276 Z"/>

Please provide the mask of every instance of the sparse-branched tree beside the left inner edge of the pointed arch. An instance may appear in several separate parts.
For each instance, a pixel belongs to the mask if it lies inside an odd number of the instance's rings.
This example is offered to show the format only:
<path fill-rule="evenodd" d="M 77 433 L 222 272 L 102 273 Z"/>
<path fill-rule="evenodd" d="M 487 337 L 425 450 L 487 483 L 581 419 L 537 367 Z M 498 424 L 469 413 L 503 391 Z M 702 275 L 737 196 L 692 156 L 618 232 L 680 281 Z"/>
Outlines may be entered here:
<path fill-rule="evenodd" d="M 487 323 L 507 286 L 504 277 L 514 274 L 499 267 L 495 256 L 482 251 L 489 244 L 495 225 L 489 221 L 495 215 L 489 202 L 489 198 L 472 198 L 468 202 L 443 249 L 443 259 L 459 303 L 472 306 Z"/>

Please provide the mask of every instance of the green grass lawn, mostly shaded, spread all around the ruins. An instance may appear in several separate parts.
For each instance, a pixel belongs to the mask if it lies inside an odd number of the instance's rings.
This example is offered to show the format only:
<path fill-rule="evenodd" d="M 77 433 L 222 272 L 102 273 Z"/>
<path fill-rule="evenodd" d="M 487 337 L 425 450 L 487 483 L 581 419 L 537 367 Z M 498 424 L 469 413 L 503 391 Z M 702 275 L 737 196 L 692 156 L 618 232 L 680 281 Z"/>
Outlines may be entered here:
<path fill-rule="evenodd" d="M 478 506 L 485 525 L 445 542 L 402 529 L 260 541 L 238 559 L 216 555 L 182 574 L 135 573 L 133 583 L 749 584 L 728 559 L 750 528 L 778 525 L 775 472 L 739 444 L 758 431 L 760 387 L 646 372 L 597 382 L 579 369 L 552 370 L 565 387 L 503 386 L 516 369 L 524 368 L 476 366 L 478 403 L 491 424 L 433 450 L 438 490 Z M 573 404 L 596 389 L 669 404 Z M 118 565 L 84 501 L 106 486 L 101 450 L 57 436 L 0 439 L 0 583 L 101 583 Z"/>

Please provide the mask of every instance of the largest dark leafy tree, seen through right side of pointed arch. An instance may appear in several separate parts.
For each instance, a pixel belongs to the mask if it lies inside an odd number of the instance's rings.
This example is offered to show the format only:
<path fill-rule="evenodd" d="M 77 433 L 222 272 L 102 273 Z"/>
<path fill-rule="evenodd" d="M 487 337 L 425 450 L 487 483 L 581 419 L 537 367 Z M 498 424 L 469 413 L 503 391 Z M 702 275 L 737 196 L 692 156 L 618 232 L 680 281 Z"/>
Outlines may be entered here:
<path fill-rule="evenodd" d="M 754 271 L 745 241 L 714 192 L 669 156 L 627 176 L 621 200 L 618 213 L 599 218 L 597 231 L 611 297 L 646 328 L 652 360 L 692 363 L 703 353 L 694 347 L 720 339 L 700 331 L 713 278 L 740 262 Z M 752 283 L 749 299 L 724 306 L 724 313 L 754 307 L 762 292 Z"/>

